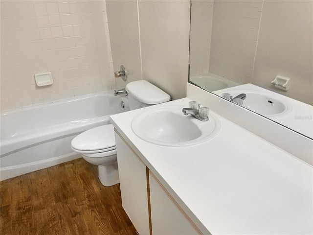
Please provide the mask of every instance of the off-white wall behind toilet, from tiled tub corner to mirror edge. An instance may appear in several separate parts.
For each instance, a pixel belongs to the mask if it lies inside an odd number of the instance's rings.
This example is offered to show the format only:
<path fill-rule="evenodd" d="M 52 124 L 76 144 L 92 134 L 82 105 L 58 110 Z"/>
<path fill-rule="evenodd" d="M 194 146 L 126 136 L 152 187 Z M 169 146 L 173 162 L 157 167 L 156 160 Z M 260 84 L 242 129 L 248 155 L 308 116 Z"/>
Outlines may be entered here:
<path fill-rule="evenodd" d="M 172 99 L 185 97 L 190 2 L 107 0 L 107 9 L 114 70 L 128 71 L 126 82 L 115 78 L 116 88 L 145 79 Z"/>

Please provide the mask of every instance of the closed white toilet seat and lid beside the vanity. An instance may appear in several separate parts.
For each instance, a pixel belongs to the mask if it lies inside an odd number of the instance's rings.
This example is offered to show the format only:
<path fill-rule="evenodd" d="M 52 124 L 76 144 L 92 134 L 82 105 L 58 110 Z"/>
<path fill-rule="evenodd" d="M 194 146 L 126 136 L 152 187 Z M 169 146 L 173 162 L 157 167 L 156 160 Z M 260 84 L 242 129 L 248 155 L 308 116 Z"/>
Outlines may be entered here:
<path fill-rule="evenodd" d="M 116 153 L 114 127 L 112 124 L 98 126 L 76 136 L 71 148 L 78 153 L 100 157 Z M 104 157 L 104 156 L 103 156 Z"/>

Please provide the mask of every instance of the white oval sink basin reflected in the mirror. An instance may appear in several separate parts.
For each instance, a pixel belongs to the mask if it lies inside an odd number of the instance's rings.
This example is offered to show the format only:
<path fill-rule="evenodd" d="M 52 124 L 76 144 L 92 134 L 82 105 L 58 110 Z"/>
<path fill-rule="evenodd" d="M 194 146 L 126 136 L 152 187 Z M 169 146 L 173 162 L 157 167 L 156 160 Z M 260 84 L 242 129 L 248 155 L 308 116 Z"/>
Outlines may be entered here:
<path fill-rule="evenodd" d="M 246 99 L 242 106 L 265 117 L 279 118 L 292 111 L 292 106 L 286 100 L 274 94 L 248 90 L 233 90 L 227 93 L 233 97 L 245 93 Z"/>

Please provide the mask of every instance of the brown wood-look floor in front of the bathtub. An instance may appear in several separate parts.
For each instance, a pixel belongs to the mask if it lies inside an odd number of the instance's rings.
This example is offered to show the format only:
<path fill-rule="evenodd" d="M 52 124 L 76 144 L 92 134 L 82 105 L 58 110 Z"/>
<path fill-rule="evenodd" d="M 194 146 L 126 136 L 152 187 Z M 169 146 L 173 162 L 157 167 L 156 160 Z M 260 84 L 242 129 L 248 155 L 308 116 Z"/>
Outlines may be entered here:
<path fill-rule="evenodd" d="M 1 235 L 135 235 L 119 184 L 84 159 L 0 182 Z"/>

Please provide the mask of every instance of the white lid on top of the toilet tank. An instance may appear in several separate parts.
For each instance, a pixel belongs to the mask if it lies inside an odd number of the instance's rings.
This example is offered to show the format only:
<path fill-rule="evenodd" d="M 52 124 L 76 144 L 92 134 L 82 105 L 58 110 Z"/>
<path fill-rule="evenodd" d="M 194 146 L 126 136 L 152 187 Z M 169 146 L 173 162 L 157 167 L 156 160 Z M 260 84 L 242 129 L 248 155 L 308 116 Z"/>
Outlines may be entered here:
<path fill-rule="evenodd" d="M 167 102 L 171 96 L 146 80 L 130 82 L 126 91 L 135 99 L 145 104 L 160 104 Z"/>

